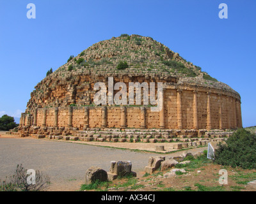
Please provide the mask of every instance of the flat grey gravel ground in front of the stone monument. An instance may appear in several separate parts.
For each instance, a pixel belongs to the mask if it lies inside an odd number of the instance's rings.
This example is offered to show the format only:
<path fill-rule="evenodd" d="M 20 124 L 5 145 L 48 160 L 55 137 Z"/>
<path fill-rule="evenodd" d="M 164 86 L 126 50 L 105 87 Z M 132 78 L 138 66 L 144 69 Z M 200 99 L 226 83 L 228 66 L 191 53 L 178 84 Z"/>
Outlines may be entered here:
<path fill-rule="evenodd" d="M 204 148 L 188 150 L 200 151 Z M 161 154 L 177 156 L 181 152 Z M 51 178 L 49 191 L 77 191 L 84 183 L 84 173 L 90 166 L 108 171 L 111 161 L 132 162 L 132 171 L 140 177 L 145 172 L 148 157 L 157 153 L 134 152 L 79 143 L 36 140 L 35 138 L 0 137 L 0 179 L 13 175 L 17 164 L 40 170 Z"/>

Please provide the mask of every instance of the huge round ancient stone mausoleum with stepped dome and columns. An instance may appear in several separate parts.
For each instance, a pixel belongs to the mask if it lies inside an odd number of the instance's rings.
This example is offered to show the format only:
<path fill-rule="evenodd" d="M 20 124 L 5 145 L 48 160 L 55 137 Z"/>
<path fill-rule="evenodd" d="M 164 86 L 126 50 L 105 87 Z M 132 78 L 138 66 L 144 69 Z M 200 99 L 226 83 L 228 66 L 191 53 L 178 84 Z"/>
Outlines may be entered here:
<path fill-rule="evenodd" d="M 104 82 L 108 87 L 109 77 L 127 87 L 129 82 L 163 82 L 161 112 L 152 112 L 143 101 L 141 105 L 95 105 L 93 86 Z M 86 131 L 109 128 L 164 129 L 176 136 L 242 128 L 241 98 L 156 40 L 122 35 L 70 57 L 38 83 L 21 114 L 19 133 L 86 135 Z"/>

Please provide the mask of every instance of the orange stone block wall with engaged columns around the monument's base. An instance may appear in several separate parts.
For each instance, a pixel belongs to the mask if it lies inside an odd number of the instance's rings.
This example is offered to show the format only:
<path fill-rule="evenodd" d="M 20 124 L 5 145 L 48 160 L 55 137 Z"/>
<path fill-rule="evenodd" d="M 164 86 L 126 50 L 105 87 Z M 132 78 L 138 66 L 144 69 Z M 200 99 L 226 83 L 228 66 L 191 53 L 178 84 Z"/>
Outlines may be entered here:
<path fill-rule="evenodd" d="M 33 118 L 33 119 L 32 119 Z M 166 85 L 161 112 L 150 106 L 36 108 L 20 126 L 64 128 L 236 129 L 242 127 L 240 96 L 220 89 Z"/>

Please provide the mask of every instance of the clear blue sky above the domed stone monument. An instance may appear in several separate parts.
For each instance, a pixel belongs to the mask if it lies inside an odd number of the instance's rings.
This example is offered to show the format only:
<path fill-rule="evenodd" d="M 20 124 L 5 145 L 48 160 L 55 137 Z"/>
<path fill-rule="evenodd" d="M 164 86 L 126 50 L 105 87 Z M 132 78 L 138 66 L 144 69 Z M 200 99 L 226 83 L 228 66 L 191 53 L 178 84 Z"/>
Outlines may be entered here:
<path fill-rule="evenodd" d="M 228 19 L 218 17 L 220 3 Z M 241 95 L 243 126 L 255 126 L 255 11 L 255 0 L 0 0 L 0 116 L 19 117 L 50 68 L 127 33 L 154 38 L 230 85 Z"/>

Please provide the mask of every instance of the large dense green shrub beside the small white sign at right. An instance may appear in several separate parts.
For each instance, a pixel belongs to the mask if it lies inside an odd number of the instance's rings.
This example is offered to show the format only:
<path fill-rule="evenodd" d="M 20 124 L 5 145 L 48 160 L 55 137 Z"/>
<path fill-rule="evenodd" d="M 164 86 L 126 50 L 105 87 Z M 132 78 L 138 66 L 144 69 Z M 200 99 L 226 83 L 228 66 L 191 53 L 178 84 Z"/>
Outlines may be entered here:
<path fill-rule="evenodd" d="M 226 141 L 227 145 L 219 145 L 219 149 L 214 153 L 217 164 L 239 166 L 244 169 L 256 168 L 256 135 L 238 129 Z"/>

